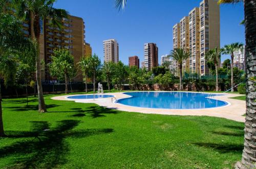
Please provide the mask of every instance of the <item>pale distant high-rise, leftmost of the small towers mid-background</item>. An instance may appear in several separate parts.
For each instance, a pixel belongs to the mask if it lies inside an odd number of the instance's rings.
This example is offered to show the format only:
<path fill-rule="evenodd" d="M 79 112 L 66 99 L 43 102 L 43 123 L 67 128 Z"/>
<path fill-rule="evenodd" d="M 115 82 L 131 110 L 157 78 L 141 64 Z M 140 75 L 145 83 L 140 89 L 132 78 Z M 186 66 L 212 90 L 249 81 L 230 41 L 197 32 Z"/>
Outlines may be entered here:
<path fill-rule="evenodd" d="M 119 62 L 119 44 L 115 39 L 103 41 L 104 61 Z"/>

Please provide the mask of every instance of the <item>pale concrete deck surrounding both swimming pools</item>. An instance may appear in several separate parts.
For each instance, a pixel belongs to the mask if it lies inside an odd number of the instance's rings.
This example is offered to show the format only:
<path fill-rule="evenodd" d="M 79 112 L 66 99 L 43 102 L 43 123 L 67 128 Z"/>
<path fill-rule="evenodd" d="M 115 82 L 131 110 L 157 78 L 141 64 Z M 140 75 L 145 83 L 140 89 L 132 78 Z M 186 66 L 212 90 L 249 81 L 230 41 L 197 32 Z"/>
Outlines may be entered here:
<path fill-rule="evenodd" d="M 143 91 L 138 91 L 138 92 L 143 92 Z M 166 91 L 152 91 L 152 92 L 166 92 Z M 196 93 L 199 93 L 199 92 L 196 92 Z M 123 92 L 104 93 L 104 94 L 114 95 L 117 100 L 130 97 L 130 95 L 123 94 Z M 164 115 L 166 114 L 167 115 L 198 115 L 198 116 L 206 115 L 206 116 L 227 118 L 227 119 L 235 120 L 237 122 L 245 122 L 245 116 L 243 116 L 243 114 L 245 114 L 245 111 L 246 111 L 245 101 L 230 99 L 232 97 L 239 96 L 241 94 L 229 94 L 229 93 L 212 93 L 212 94 L 222 94 L 222 95 L 214 96 L 214 98 L 212 99 L 225 101 L 228 103 L 228 105 L 223 107 L 207 108 L 207 109 L 156 109 L 156 108 L 126 106 L 119 103 L 115 103 L 115 99 L 113 99 L 113 102 L 112 102 L 112 98 L 95 99 L 95 100 L 67 98 L 68 96 L 82 95 L 82 94 L 61 95 L 61 96 L 55 96 L 51 99 L 74 101 L 77 103 L 95 103 L 99 106 L 103 106 L 106 108 L 117 109 L 120 111 L 128 111 L 128 112 L 139 112 L 139 113 L 146 113 L 146 114 L 164 114 Z"/>

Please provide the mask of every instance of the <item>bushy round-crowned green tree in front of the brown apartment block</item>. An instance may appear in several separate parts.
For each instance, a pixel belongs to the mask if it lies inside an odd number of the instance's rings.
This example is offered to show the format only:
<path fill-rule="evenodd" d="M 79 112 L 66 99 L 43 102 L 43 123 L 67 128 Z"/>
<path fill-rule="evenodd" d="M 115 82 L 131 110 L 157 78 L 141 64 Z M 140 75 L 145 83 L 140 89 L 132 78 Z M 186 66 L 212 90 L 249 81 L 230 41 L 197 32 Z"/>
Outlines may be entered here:
<path fill-rule="evenodd" d="M 69 73 L 74 69 L 74 57 L 67 49 L 55 49 L 52 55 L 52 63 L 48 64 L 50 75 L 58 80 L 65 80 L 65 93 L 68 91 Z"/>

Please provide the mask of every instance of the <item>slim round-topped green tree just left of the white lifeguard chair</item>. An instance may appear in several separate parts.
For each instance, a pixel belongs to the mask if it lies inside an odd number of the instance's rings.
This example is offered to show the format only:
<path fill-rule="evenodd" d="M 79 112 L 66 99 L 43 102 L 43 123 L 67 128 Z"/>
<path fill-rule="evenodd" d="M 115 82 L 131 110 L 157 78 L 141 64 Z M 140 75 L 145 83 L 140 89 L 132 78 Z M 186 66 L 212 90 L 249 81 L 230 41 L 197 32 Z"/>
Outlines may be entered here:
<path fill-rule="evenodd" d="M 90 71 L 92 72 L 93 92 L 95 92 L 96 75 L 101 68 L 101 62 L 96 54 L 94 54 L 92 57 L 89 57 L 89 68 L 90 68 Z"/>

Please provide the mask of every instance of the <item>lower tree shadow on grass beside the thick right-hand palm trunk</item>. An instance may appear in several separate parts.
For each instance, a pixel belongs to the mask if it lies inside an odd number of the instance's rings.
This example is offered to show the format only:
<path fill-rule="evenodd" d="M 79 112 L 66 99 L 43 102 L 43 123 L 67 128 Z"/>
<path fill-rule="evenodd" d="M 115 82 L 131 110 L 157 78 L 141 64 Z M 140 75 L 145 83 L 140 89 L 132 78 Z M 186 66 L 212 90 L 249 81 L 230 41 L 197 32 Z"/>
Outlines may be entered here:
<path fill-rule="evenodd" d="M 227 144 L 227 143 L 220 144 L 220 143 L 210 143 L 210 142 L 195 142 L 193 144 L 200 147 L 204 147 L 204 148 L 215 149 L 220 153 L 235 152 L 235 153 L 241 154 L 244 148 L 243 144 Z"/>

